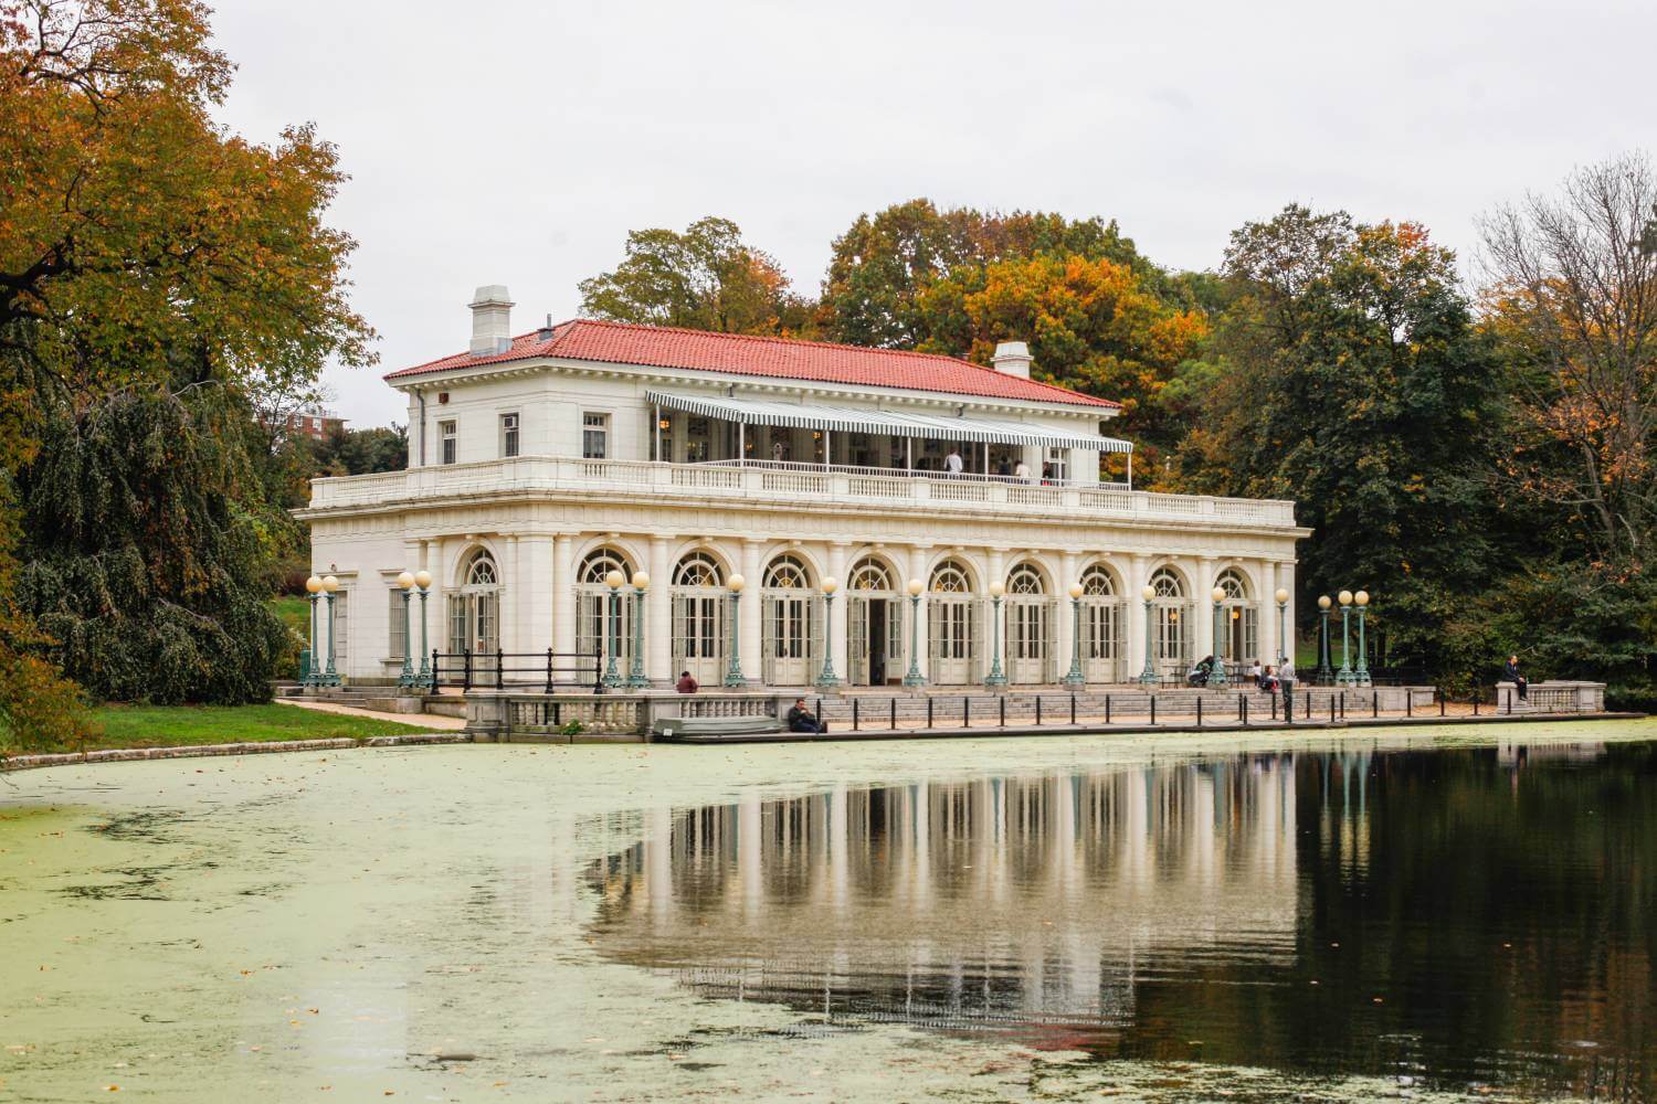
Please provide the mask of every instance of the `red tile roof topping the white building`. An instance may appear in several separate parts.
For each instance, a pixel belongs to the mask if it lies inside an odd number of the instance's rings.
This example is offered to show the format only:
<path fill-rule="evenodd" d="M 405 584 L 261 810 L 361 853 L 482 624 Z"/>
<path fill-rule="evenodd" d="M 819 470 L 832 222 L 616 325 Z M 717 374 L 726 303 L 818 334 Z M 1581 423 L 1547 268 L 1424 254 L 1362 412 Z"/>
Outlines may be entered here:
<path fill-rule="evenodd" d="M 650 367 L 683 367 L 737 376 L 771 376 L 774 379 L 810 379 L 857 387 L 898 387 L 935 391 L 981 399 L 1014 399 L 1022 402 L 1060 402 L 1065 406 L 1120 407 L 1120 402 L 1095 399 L 1079 391 L 1007 376 L 971 361 L 935 353 L 901 349 L 865 349 L 853 344 L 794 341 L 789 338 L 751 338 L 746 334 L 671 329 L 666 326 L 633 326 L 628 323 L 578 318 L 552 328 L 550 338 L 530 331 L 512 339 L 512 348 L 490 356 L 457 353 L 441 361 L 391 372 L 386 379 L 408 379 L 457 367 L 481 367 L 507 361 L 555 356 L 603 364 L 645 364 Z"/>

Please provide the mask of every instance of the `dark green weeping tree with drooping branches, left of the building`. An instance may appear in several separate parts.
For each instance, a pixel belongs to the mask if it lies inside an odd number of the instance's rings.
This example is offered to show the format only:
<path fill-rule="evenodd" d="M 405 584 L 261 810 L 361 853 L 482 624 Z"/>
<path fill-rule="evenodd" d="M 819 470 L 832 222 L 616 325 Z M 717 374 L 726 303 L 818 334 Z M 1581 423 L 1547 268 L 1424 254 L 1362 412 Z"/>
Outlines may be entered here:
<path fill-rule="evenodd" d="M 219 384 L 134 386 L 56 409 L 20 473 L 22 594 L 58 667 L 101 698 L 240 705 L 270 697 L 288 634 L 273 556 Z"/>

